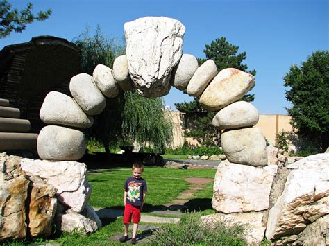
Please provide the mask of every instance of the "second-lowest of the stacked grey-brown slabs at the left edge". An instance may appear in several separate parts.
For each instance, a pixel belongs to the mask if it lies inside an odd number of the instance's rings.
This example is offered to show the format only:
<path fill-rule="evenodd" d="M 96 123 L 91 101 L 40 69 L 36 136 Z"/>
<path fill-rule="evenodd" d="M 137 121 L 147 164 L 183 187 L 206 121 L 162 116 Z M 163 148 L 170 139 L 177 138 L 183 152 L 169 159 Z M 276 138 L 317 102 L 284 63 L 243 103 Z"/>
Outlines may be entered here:
<path fill-rule="evenodd" d="M 28 120 L 0 117 L 0 132 L 28 132 L 30 128 Z"/>

